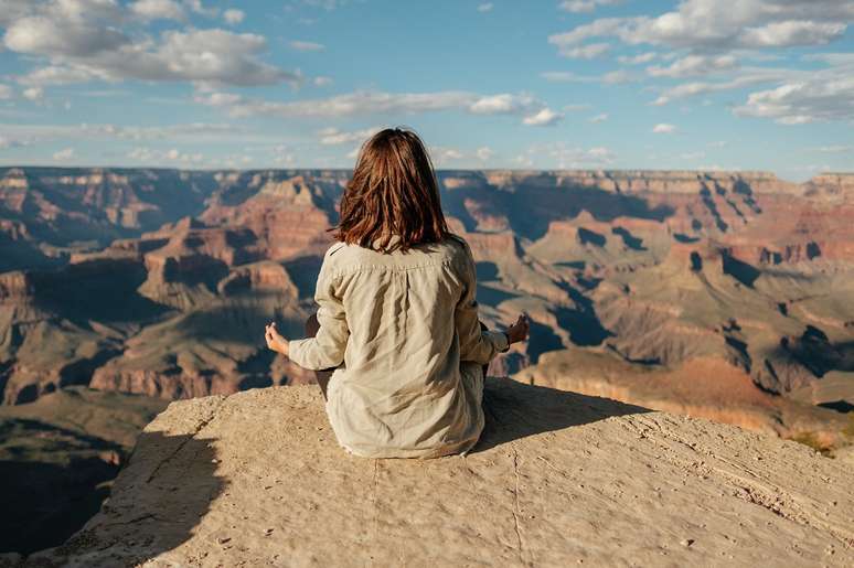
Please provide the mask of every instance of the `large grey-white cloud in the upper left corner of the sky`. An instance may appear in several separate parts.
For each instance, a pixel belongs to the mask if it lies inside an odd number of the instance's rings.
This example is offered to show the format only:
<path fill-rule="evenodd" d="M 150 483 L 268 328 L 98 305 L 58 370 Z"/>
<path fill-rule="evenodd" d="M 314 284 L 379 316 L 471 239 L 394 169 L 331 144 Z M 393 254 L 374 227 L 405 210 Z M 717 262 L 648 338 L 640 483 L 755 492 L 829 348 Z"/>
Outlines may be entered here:
<path fill-rule="evenodd" d="M 185 2 L 205 15 L 218 10 Z M 211 85 L 273 85 L 302 81 L 261 62 L 264 36 L 226 30 L 166 30 L 159 37 L 128 35 L 119 25 L 136 19 L 180 18 L 182 6 L 139 0 L 127 13 L 116 0 L 57 0 L 35 4 L 9 21 L 3 43 L 9 50 L 47 60 L 21 82 L 31 86 L 92 79 L 194 82 Z"/>

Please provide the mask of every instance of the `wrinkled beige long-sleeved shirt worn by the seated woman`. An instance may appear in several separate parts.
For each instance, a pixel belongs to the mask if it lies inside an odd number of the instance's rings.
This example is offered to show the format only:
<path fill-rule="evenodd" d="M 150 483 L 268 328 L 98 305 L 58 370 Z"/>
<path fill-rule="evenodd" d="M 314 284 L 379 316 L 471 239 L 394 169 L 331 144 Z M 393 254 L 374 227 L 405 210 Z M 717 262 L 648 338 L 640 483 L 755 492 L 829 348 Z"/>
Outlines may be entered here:
<path fill-rule="evenodd" d="M 468 451 L 483 430 L 483 372 L 503 332 L 481 331 L 474 260 L 461 237 L 383 254 L 337 243 L 314 300 L 320 329 L 290 360 L 338 366 L 327 414 L 339 443 L 366 458 Z"/>

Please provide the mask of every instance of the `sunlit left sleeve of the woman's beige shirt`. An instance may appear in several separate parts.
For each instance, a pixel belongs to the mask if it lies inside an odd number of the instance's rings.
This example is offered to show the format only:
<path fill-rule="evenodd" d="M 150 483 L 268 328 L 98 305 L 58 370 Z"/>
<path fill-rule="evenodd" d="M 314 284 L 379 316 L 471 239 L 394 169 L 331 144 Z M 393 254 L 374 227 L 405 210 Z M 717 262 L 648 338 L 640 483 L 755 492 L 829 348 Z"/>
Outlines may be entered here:
<path fill-rule="evenodd" d="M 344 361 L 344 349 L 350 337 L 344 303 L 335 290 L 335 279 L 327 269 L 328 258 L 323 259 L 314 290 L 320 328 L 313 337 L 293 340 L 288 344 L 288 358 L 311 371 L 339 366 Z"/>

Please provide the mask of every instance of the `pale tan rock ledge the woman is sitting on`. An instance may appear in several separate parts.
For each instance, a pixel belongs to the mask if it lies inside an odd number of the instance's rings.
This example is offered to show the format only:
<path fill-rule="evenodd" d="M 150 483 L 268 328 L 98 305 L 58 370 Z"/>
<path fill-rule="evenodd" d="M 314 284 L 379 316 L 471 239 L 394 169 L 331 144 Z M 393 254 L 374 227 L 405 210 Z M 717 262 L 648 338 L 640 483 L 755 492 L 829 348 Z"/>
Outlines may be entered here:
<path fill-rule="evenodd" d="M 339 448 L 316 386 L 172 403 L 29 566 L 852 566 L 854 468 L 737 427 L 490 378 L 467 457 Z"/>

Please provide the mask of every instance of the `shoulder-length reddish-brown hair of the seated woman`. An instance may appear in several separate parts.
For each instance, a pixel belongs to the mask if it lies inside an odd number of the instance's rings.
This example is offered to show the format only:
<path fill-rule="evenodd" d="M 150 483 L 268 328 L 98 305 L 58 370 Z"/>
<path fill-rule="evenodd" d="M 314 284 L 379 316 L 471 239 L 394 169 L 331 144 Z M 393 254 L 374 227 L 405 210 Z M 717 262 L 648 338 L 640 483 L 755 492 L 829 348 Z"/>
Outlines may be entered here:
<path fill-rule="evenodd" d="M 386 128 L 359 151 L 353 179 L 341 197 L 333 236 L 341 242 L 406 251 L 448 234 L 430 157 L 418 135 Z M 397 242 L 391 242 L 398 236 Z"/>

